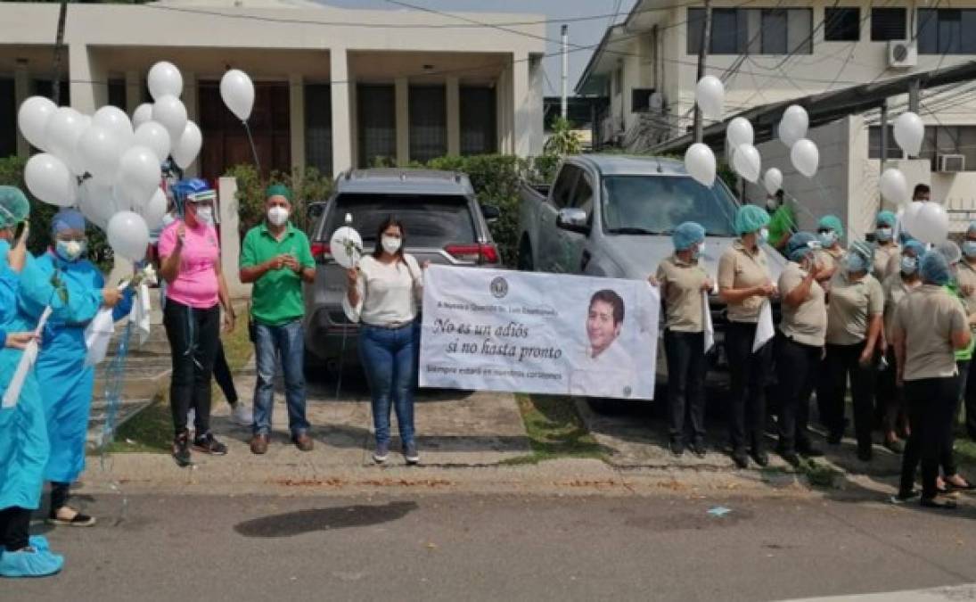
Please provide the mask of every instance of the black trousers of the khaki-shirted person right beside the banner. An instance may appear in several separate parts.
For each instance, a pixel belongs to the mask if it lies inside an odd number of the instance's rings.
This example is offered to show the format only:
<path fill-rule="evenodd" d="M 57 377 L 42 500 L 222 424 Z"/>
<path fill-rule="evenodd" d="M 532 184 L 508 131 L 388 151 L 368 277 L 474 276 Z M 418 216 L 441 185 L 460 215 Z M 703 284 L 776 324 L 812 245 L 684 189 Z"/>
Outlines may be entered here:
<path fill-rule="evenodd" d="M 671 441 L 687 438 L 702 443 L 705 441 L 705 333 L 665 330 L 665 353 Z"/>

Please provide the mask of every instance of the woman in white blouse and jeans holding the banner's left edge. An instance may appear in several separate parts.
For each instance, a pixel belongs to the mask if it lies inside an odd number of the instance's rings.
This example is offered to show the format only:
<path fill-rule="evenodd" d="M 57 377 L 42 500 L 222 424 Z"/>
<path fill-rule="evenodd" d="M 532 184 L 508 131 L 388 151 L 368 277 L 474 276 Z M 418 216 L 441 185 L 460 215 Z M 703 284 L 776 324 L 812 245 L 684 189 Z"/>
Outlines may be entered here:
<path fill-rule="evenodd" d="M 424 274 L 417 259 L 403 252 L 406 239 L 403 224 L 387 218 L 377 232 L 376 249 L 346 273 L 343 301 L 346 312 L 360 323 L 359 356 L 373 401 L 373 459 L 378 463 L 389 453 L 390 408 L 396 411 L 404 458 L 408 464 L 420 461 L 414 439 L 414 383 Z"/>

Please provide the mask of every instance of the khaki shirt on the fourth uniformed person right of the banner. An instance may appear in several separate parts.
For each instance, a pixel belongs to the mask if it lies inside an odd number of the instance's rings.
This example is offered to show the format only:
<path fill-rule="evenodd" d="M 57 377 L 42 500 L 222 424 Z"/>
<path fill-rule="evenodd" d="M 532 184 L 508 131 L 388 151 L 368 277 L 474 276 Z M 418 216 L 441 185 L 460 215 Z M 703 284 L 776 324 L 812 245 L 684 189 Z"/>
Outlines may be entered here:
<path fill-rule="evenodd" d="M 831 303 L 827 310 L 827 342 L 855 345 L 868 337 L 872 316 L 884 312 L 884 291 L 874 276 L 866 274 L 856 282 L 843 270 L 831 279 Z"/>

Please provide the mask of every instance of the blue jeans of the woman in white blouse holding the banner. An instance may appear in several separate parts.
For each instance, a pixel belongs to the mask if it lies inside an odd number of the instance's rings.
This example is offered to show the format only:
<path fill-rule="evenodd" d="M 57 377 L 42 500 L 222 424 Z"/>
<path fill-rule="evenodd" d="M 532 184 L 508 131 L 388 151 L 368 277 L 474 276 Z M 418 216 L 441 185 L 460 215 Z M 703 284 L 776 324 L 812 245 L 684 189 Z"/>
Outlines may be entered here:
<path fill-rule="evenodd" d="M 373 398 L 373 427 L 377 444 L 389 443 L 389 410 L 396 410 L 400 440 L 414 441 L 414 382 L 420 328 L 409 323 L 399 328 L 362 324 L 359 356 Z"/>

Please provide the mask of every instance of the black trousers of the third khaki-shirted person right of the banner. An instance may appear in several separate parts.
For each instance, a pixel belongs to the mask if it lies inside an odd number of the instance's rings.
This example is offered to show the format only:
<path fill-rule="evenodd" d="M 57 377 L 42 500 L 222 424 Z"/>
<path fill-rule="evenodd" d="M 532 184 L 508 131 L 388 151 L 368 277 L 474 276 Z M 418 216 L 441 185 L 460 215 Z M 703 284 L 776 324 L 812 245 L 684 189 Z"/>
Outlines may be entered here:
<path fill-rule="evenodd" d="M 810 389 L 820 371 L 823 348 L 794 341 L 782 332 L 776 335 L 776 373 L 779 381 L 780 451 L 808 450 L 810 432 Z"/>

